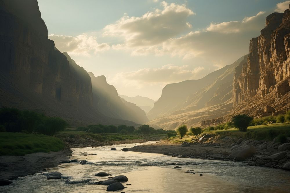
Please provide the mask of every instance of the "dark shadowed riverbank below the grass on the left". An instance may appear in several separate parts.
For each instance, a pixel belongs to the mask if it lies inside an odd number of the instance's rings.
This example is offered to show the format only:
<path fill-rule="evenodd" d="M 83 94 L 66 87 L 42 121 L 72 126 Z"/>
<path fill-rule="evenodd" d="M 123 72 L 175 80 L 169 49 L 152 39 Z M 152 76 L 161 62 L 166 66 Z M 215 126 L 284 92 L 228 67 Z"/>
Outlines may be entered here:
<path fill-rule="evenodd" d="M 23 177 L 36 172 L 45 171 L 59 165 L 59 162 L 68 160 L 71 150 L 61 150 L 58 152 L 38 152 L 25 156 L 0 156 L 0 185 L 9 183 L 9 180 Z M 8 181 L 4 181 L 8 180 Z M 11 183 L 12 181 L 10 181 Z M 4 183 L 4 184 L 3 184 Z"/>

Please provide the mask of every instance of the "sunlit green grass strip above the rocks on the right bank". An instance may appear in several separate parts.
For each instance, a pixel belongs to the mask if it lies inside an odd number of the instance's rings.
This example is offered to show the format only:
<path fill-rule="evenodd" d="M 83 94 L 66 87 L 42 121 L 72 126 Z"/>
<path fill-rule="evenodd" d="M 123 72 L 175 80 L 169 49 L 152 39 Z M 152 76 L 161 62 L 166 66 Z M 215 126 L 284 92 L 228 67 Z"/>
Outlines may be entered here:
<path fill-rule="evenodd" d="M 257 140 L 273 140 L 279 135 L 290 136 L 289 123 L 276 123 L 268 125 L 257 125 L 248 127 L 246 132 L 240 132 L 238 129 L 206 131 L 215 135 L 226 135 L 232 137 L 243 137 Z"/>

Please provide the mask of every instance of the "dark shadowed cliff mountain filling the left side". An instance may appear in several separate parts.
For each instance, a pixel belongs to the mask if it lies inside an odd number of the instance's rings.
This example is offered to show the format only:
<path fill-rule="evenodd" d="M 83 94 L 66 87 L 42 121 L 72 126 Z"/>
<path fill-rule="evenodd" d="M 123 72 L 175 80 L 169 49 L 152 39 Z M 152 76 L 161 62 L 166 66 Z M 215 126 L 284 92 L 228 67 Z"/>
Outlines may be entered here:
<path fill-rule="evenodd" d="M 1 0 L 0 25 L 0 107 L 60 116 L 73 125 L 137 125 L 96 111 L 90 77 L 55 49 L 36 0 Z"/>

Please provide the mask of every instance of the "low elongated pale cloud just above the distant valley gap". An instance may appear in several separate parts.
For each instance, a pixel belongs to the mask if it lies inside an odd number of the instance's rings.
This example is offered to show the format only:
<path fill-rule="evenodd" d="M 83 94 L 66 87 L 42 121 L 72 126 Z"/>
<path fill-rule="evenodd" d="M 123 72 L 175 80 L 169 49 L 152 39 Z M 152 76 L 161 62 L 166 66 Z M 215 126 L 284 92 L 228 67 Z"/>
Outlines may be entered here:
<path fill-rule="evenodd" d="M 154 83 L 172 83 L 183 80 L 193 79 L 195 76 L 204 70 L 204 67 L 189 67 L 189 65 L 177 66 L 173 64 L 164 65 L 161 68 L 144 68 L 137 71 L 118 73 L 115 81 L 123 80 L 134 84 L 154 84 Z"/>

